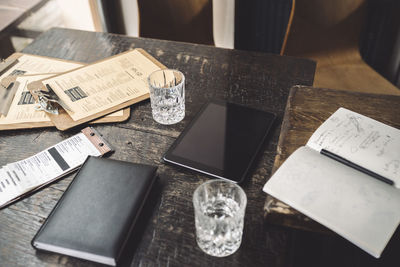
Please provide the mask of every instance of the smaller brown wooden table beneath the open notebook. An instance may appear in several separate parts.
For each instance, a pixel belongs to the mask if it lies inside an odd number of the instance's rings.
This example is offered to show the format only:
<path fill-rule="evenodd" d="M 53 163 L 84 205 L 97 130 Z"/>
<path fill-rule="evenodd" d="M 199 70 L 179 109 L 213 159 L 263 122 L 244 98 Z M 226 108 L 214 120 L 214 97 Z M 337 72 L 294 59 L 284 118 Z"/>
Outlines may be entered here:
<path fill-rule="evenodd" d="M 272 172 L 300 146 L 339 107 L 400 129 L 400 96 L 365 94 L 332 89 L 293 87 L 282 122 L 277 155 Z M 264 207 L 267 221 L 312 231 L 329 231 L 288 205 L 268 196 Z"/>

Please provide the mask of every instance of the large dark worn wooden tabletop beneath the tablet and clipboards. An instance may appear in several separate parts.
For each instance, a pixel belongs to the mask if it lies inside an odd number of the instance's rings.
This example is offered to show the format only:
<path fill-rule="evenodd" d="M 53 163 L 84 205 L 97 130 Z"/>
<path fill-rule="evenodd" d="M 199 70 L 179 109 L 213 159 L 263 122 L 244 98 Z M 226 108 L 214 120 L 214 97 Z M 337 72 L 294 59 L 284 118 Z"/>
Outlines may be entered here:
<path fill-rule="evenodd" d="M 94 126 L 115 148 L 110 158 L 158 166 L 158 183 L 124 251 L 122 266 L 363 266 L 365 262 L 377 262 L 336 235 L 270 225 L 263 218 L 266 195 L 262 187 L 271 173 L 289 89 L 297 84 L 312 84 L 312 61 L 67 29 L 45 32 L 24 52 L 89 63 L 139 47 L 185 74 L 186 117 L 172 126 L 157 124 L 146 100 L 132 106 L 127 122 Z M 204 254 L 195 241 L 192 194 L 209 178 L 161 162 L 163 153 L 210 99 L 271 111 L 278 117 L 251 177 L 242 185 L 248 197 L 242 245 L 225 258 Z M 80 129 L 0 132 L 0 166 L 27 158 Z M 39 252 L 30 246 L 73 177 L 71 174 L 0 210 L 0 266 L 98 265 Z"/>

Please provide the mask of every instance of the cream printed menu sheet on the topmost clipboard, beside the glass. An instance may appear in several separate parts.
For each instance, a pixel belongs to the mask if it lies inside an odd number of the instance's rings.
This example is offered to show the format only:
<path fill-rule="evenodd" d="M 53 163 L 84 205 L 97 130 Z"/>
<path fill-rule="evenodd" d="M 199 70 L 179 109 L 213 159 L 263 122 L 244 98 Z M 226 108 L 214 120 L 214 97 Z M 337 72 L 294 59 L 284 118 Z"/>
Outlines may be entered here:
<path fill-rule="evenodd" d="M 138 50 L 46 79 L 74 120 L 97 114 L 149 93 L 147 77 L 160 69 Z"/>

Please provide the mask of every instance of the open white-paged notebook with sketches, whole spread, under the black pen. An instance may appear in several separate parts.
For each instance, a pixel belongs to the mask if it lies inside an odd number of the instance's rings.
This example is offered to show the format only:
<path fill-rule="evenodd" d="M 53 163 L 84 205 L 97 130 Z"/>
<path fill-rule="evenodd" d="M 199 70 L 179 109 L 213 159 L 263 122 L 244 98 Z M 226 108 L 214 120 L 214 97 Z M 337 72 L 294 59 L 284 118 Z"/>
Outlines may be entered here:
<path fill-rule="evenodd" d="M 320 152 L 326 149 L 389 185 Z M 340 108 L 297 149 L 264 191 L 380 257 L 400 222 L 400 130 Z"/>

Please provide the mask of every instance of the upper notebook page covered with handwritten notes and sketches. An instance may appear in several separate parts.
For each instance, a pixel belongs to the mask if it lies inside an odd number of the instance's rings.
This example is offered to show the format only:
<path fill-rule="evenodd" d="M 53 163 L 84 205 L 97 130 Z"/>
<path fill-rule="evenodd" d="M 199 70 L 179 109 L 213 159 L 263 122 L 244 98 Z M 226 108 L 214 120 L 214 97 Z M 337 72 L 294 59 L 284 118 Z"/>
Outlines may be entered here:
<path fill-rule="evenodd" d="M 339 108 L 311 136 L 307 146 L 326 149 L 392 180 L 400 188 L 400 130 Z"/>

